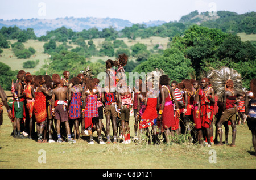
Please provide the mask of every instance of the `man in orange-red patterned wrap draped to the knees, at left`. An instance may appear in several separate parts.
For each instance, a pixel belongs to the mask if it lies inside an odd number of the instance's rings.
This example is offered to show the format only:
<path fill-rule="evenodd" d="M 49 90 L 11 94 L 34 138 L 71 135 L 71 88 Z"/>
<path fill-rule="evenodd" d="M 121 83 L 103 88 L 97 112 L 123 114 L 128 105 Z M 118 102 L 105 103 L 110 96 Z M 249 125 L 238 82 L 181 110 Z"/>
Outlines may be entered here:
<path fill-rule="evenodd" d="M 46 139 L 43 138 L 43 131 L 46 126 L 46 95 L 51 95 L 48 93 L 47 89 L 43 87 L 45 82 L 44 76 L 36 76 L 35 78 L 35 102 L 33 106 L 33 111 L 35 114 L 36 126 L 38 129 L 38 142 L 46 143 Z"/>

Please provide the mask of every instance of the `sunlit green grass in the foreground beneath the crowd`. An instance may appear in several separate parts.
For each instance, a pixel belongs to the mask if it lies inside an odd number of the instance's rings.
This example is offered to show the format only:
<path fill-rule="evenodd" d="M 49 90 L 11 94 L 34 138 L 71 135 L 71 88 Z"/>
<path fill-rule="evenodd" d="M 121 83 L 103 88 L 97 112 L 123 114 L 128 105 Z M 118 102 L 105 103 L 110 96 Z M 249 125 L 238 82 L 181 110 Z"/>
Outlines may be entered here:
<path fill-rule="evenodd" d="M 130 117 L 129 123 L 133 138 L 133 117 Z M 236 147 L 200 147 L 189 143 L 148 145 L 135 142 L 102 145 L 97 144 L 97 141 L 91 145 L 87 142 L 88 136 L 82 136 L 82 140 L 75 144 L 37 143 L 29 139 L 14 141 L 10 136 L 11 131 L 12 124 L 4 108 L 3 125 L 0 127 L 1 169 L 254 169 L 256 165 L 251 132 L 247 125 L 237 125 Z M 229 143 L 232 140 L 230 133 Z M 96 132 L 93 136 L 97 139 Z M 38 161 L 41 156 L 38 152 L 42 149 L 46 153 L 46 163 Z M 216 163 L 209 162 L 212 155 L 209 155 L 210 150 L 216 151 Z"/>

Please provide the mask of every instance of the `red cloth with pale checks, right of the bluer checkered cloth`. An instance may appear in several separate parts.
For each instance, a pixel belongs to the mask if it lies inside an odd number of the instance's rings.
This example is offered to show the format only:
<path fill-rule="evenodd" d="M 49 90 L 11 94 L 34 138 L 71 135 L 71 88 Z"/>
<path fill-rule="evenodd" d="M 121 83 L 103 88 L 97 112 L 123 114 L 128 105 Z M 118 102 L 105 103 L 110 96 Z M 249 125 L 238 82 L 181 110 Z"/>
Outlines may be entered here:
<path fill-rule="evenodd" d="M 85 117 L 93 118 L 98 116 L 98 106 L 97 106 L 97 95 L 86 96 L 86 105 L 84 111 Z"/>

